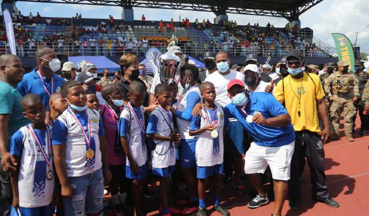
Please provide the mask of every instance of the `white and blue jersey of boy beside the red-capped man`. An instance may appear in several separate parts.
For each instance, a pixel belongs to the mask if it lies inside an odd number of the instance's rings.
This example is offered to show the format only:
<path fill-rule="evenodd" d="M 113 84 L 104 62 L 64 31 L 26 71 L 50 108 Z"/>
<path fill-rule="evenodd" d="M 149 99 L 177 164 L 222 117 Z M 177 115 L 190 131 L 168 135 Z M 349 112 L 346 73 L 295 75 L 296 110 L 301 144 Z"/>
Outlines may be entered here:
<path fill-rule="evenodd" d="M 214 166 L 223 162 L 224 113 L 223 108 L 219 104 L 216 104 L 216 109 L 205 109 L 202 110 L 201 116 L 192 117 L 190 130 L 196 131 L 210 125 L 208 123 L 209 118 L 213 118 L 211 124 L 217 126 L 215 130 L 218 132 L 218 136 L 213 138 L 210 135 L 210 131 L 205 131 L 198 136 L 195 150 L 196 164 L 198 166 Z"/>

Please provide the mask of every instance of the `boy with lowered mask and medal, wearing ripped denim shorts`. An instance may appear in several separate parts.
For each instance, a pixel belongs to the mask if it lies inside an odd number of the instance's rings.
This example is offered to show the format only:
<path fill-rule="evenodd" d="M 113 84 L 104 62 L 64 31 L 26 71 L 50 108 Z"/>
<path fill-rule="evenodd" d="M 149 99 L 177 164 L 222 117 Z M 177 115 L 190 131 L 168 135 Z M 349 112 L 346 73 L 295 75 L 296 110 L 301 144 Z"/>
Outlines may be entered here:
<path fill-rule="evenodd" d="M 104 183 L 112 178 L 102 120 L 87 108 L 79 82 L 65 82 L 61 95 L 69 108 L 54 122 L 53 151 L 64 215 L 97 214 L 103 209 Z"/>

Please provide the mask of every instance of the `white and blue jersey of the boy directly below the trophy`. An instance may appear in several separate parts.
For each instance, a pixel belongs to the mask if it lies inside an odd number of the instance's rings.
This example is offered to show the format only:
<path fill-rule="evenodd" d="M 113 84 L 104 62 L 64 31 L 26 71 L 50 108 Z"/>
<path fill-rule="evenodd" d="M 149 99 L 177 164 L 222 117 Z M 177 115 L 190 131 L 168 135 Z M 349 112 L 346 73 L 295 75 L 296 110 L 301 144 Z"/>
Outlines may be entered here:
<path fill-rule="evenodd" d="M 169 136 L 174 134 L 172 113 L 167 109 L 156 108 L 151 112 L 146 134 Z M 166 168 L 176 164 L 174 143 L 154 139 L 154 150 L 151 152 L 153 168 Z"/>

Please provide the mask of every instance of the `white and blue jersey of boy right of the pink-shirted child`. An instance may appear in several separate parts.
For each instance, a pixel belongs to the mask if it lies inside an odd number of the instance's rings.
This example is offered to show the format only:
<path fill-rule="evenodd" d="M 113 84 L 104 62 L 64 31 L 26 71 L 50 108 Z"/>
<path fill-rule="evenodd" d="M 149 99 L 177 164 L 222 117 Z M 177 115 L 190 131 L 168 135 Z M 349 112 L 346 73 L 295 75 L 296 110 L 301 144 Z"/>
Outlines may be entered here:
<path fill-rule="evenodd" d="M 134 113 L 128 108 L 128 106 L 124 107 L 119 121 L 119 134 L 121 137 L 126 137 L 129 151 L 133 159 L 138 166 L 142 166 L 148 159 L 145 143 L 144 107 L 132 108 Z M 144 131 L 142 131 L 137 119 Z M 125 165 L 129 166 L 128 157 L 126 157 Z"/>

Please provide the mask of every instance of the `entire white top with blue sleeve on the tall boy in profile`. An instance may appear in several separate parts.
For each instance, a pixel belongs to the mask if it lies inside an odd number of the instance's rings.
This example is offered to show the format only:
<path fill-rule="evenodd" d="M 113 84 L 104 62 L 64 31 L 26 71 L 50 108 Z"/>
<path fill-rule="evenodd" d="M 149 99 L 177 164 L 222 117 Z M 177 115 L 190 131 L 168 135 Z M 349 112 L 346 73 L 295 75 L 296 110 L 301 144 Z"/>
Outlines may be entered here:
<path fill-rule="evenodd" d="M 192 109 L 197 103 L 201 103 L 201 92 L 198 86 L 193 86 L 182 98 L 181 104 L 177 108 L 177 127 L 182 139 L 193 139 L 195 136 L 190 136 L 189 124 L 192 118 Z"/>

